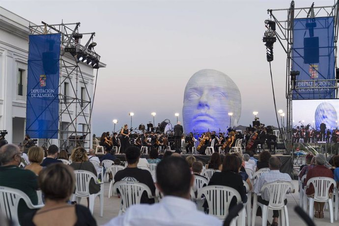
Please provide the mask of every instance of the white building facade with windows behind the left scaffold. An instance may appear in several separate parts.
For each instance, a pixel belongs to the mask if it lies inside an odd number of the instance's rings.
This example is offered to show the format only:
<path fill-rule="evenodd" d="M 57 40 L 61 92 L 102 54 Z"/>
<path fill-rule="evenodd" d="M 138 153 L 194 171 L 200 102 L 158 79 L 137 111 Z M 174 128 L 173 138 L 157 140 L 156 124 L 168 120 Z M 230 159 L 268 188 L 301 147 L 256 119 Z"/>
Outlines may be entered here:
<path fill-rule="evenodd" d="M 30 23 L 28 20 L 0 7 L 0 130 L 7 130 L 8 134 L 5 139 L 9 143 L 19 144 L 24 140 L 26 128 L 26 96 L 27 96 L 27 70 L 28 70 L 28 28 Z M 69 61 L 74 61 L 74 58 L 68 53 L 63 57 L 68 57 Z M 95 77 L 94 69 L 85 63 L 79 63 L 84 79 L 79 79 L 76 83 L 77 75 L 72 73 L 70 80 L 59 86 L 59 94 L 75 97 L 73 90 L 76 90 L 78 98 L 88 101 L 88 98 L 93 97 Z M 100 63 L 101 67 L 106 65 Z M 61 70 L 63 78 L 67 76 L 64 69 Z M 62 78 L 62 81 L 64 80 Z M 61 80 L 60 80 L 61 81 Z M 73 87 L 72 87 L 73 86 Z M 73 89 L 74 88 L 74 89 Z M 89 95 L 85 95 L 88 91 Z M 63 113 L 61 120 L 64 130 L 78 115 L 76 122 L 69 126 L 68 130 L 85 132 L 87 130 L 86 121 L 90 122 L 89 107 L 85 108 L 84 113 L 79 114 L 80 108 L 75 105 L 70 105 L 68 111 Z M 76 128 L 74 128 L 74 126 Z M 67 139 L 69 134 L 61 135 L 61 139 Z M 92 134 L 86 139 L 89 143 L 84 146 L 92 147 Z M 39 145 L 46 141 L 39 140 Z M 53 144 L 58 144 L 58 140 L 51 141 Z M 65 146 L 69 146 L 66 143 Z"/>

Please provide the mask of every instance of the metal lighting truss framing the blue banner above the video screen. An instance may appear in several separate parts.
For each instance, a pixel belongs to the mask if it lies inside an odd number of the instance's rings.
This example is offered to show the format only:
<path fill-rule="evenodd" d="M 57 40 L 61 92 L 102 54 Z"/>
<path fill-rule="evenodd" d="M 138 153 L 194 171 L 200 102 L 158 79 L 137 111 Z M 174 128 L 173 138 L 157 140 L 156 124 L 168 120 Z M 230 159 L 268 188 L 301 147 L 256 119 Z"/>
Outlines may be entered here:
<path fill-rule="evenodd" d="M 337 40 L 338 40 L 338 13 L 339 13 L 339 0 L 335 1 L 332 6 L 314 6 L 314 2 L 311 7 L 295 8 L 294 1 L 291 1 L 290 7 L 285 9 L 267 9 L 267 13 L 270 15 L 272 21 L 276 22 L 277 28 L 275 31 L 276 37 L 280 42 L 283 50 L 287 55 L 286 59 L 286 134 L 283 134 L 286 151 L 288 154 L 294 153 L 293 148 L 293 134 L 292 134 L 292 91 L 301 88 L 291 85 L 291 65 L 292 65 L 292 44 L 293 44 L 293 23 L 294 19 L 299 18 L 312 18 L 312 17 L 334 17 L 334 42 L 335 42 L 335 66 L 337 67 Z M 286 17 L 287 16 L 287 17 Z M 280 20 L 279 18 L 285 18 Z M 309 83 L 311 80 L 298 80 L 298 82 Z M 333 85 L 331 82 L 336 81 Z M 337 80 L 322 80 L 326 85 L 322 88 L 330 88 L 338 90 Z M 309 85 L 308 89 L 318 88 L 316 83 Z M 304 87 L 305 88 L 305 87 Z M 338 96 L 338 93 L 337 93 Z M 292 155 L 293 156 L 293 155 Z"/>

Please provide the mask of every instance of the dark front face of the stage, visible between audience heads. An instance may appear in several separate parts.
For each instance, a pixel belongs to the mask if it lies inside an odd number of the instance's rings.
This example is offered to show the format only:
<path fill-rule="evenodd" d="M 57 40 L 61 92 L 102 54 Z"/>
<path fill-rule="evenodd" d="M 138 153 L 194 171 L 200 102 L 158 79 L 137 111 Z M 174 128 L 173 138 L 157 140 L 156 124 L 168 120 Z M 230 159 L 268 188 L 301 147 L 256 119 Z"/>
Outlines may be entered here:
<path fill-rule="evenodd" d="M 191 154 L 192 155 L 192 154 Z M 189 156 L 189 154 L 181 154 L 183 158 L 186 158 Z M 204 164 L 207 164 L 210 160 L 210 155 L 194 155 L 198 161 L 203 162 Z M 282 167 L 280 169 L 281 172 L 288 173 L 291 175 L 292 173 L 292 156 L 291 155 L 282 155 L 282 154 L 276 154 L 273 156 L 278 156 L 282 161 Z M 116 154 L 115 157 L 119 158 L 121 161 L 126 161 L 124 154 Z M 147 154 L 141 154 L 141 158 L 148 158 Z M 254 158 L 258 158 L 258 155 L 254 155 Z M 221 155 L 221 160 L 223 161 L 224 155 Z"/>

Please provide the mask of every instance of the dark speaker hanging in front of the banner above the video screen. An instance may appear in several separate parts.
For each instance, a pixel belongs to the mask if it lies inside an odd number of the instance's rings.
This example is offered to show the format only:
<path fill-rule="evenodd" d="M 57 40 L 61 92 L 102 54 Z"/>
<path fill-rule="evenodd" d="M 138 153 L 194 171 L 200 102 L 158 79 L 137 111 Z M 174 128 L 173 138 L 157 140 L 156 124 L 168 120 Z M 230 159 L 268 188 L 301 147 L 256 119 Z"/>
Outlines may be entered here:
<path fill-rule="evenodd" d="M 319 37 L 304 38 L 304 63 L 319 63 Z"/>

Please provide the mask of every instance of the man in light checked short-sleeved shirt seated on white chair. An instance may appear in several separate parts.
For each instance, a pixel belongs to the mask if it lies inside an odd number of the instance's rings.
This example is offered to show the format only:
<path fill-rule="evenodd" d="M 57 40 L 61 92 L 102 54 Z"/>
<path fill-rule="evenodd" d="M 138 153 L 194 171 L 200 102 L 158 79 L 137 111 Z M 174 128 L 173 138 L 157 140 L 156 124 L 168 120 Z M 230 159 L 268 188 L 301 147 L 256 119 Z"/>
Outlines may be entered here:
<path fill-rule="evenodd" d="M 292 181 L 291 177 L 287 173 L 282 173 L 279 171 L 281 164 L 282 163 L 280 161 L 280 158 L 278 157 L 271 157 L 269 159 L 268 166 L 270 168 L 270 171 L 268 173 L 261 174 L 260 177 L 257 179 L 256 183 L 254 184 L 254 193 L 256 194 L 260 193 L 262 186 L 264 186 L 267 183 L 276 182 L 276 181 L 287 181 L 287 182 Z M 258 196 L 257 200 L 258 202 L 264 205 L 268 205 L 268 202 L 270 200 L 268 190 L 265 189 L 265 191 L 261 194 L 261 196 Z M 287 204 L 287 199 L 284 200 L 284 203 L 285 205 Z M 258 207 L 256 215 L 261 216 L 260 207 Z M 273 221 L 272 221 L 271 226 L 278 226 L 278 218 L 279 218 L 279 211 L 273 210 Z M 268 221 L 267 221 L 267 224 L 269 225 Z"/>

